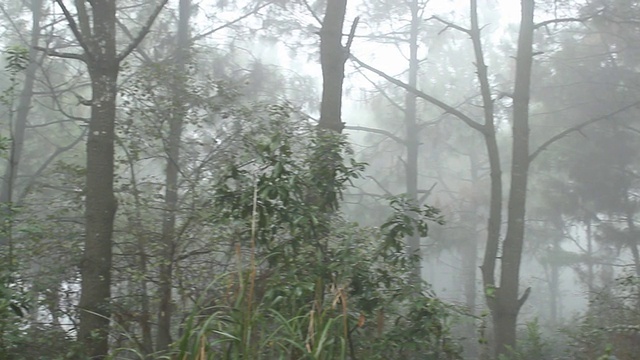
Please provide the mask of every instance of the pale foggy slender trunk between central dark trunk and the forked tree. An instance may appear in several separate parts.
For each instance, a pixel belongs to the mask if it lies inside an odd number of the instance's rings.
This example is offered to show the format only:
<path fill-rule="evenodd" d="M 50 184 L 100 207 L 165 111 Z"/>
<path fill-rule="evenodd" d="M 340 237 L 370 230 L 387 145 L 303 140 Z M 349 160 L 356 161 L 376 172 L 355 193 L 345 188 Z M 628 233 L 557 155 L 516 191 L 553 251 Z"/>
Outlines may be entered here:
<path fill-rule="evenodd" d="M 418 0 L 411 0 L 411 32 L 409 34 L 409 79 L 408 84 L 416 87 L 418 84 L 418 32 L 420 21 L 418 14 Z M 417 96 L 407 92 L 405 96 L 404 124 L 406 130 L 407 162 L 405 164 L 405 181 L 407 196 L 414 203 L 418 202 L 418 153 L 420 149 L 420 128 L 417 121 Z M 422 281 L 422 253 L 420 250 L 420 234 L 414 231 L 407 239 L 410 254 L 417 255 L 420 260 L 413 269 L 413 276 L 417 285 Z"/>

